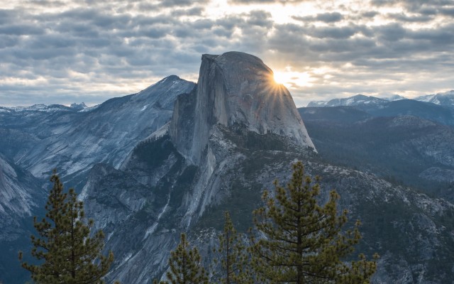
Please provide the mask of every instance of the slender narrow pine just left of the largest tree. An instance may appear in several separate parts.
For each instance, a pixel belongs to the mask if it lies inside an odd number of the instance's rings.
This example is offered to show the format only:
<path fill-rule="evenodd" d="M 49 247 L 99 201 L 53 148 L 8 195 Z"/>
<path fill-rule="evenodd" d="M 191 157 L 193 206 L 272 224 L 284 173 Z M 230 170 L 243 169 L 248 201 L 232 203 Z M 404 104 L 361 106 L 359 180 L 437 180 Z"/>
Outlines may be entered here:
<path fill-rule="evenodd" d="M 221 273 L 217 273 L 217 278 L 222 284 L 252 284 L 249 256 L 243 241 L 233 227 L 228 212 L 224 213 L 224 219 L 223 232 L 218 236 L 219 246 L 214 250 L 221 255 L 221 261 L 216 259 L 216 264 L 221 263 Z"/>

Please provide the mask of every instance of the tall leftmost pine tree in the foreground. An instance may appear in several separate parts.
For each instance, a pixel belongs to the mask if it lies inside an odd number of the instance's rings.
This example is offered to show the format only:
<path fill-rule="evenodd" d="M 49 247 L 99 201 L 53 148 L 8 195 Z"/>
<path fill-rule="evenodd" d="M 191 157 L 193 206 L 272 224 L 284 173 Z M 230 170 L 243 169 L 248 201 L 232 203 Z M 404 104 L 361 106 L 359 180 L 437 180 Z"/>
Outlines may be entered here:
<path fill-rule="evenodd" d="M 84 223 L 84 204 L 77 200 L 74 189 L 63 192 L 56 171 L 50 181 L 52 190 L 45 205 L 47 213 L 40 222 L 33 222 L 39 237 L 31 236 L 31 255 L 40 261 L 33 265 L 22 262 L 36 283 L 104 283 L 114 254 L 101 255 L 104 234 L 97 231 L 90 237 L 92 219 Z M 22 253 L 19 253 L 22 261 Z"/>

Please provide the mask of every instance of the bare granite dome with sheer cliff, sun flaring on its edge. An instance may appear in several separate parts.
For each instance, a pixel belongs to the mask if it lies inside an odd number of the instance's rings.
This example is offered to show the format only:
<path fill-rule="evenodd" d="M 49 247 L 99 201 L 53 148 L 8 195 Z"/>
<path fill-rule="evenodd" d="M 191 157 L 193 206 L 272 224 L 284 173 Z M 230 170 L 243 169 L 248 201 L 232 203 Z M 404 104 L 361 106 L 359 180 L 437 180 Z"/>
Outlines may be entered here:
<path fill-rule="evenodd" d="M 217 125 L 245 126 L 259 134 L 275 133 L 315 150 L 286 87 L 273 80 L 262 60 L 239 52 L 202 55 L 196 89 L 180 96 L 170 123 L 175 146 L 193 163 L 201 163 Z"/>

